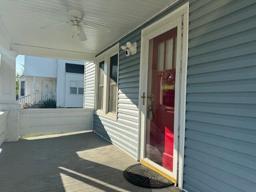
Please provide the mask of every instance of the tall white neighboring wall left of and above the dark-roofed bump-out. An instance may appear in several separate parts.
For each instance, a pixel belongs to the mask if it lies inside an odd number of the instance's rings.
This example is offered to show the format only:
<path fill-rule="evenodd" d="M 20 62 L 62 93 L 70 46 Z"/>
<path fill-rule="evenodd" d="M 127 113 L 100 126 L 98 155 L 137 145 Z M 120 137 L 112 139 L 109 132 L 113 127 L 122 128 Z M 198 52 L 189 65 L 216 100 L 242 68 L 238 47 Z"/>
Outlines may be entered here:
<path fill-rule="evenodd" d="M 56 100 L 57 100 L 57 106 L 60 106 L 60 107 L 65 107 L 66 63 L 84 65 L 84 61 L 58 59 L 58 72 L 57 72 L 58 80 L 57 80 L 57 89 L 56 89 L 56 98 L 57 98 Z"/>

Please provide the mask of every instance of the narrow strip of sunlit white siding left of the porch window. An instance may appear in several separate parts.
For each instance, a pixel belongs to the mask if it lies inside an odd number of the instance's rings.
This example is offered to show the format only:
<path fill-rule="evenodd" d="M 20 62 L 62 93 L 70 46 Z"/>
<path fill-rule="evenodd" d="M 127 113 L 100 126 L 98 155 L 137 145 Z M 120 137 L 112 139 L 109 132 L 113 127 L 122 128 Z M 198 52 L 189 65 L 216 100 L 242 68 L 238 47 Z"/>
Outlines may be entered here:
<path fill-rule="evenodd" d="M 95 63 L 86 62 L 84 66 L 84 108 L 94 108 Z"/>

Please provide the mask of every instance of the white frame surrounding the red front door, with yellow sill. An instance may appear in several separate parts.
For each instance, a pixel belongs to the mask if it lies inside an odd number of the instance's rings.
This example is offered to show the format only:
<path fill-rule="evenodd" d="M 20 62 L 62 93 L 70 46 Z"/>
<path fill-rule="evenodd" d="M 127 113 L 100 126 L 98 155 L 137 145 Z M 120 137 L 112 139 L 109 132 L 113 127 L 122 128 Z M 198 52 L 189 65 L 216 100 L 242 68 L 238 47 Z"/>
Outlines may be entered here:
<path fill-rule="evenodd" d="M 149 40 L 171 30 L 172 28 L 177 27 L 178 33 L 181 33 L 180 42 L 181 45 L 177 49 L 181 49 L 180 58 L 180 69 L 176 69 L 180 73 L 180 97 L 178 105 L 178 117 L 176 122 L 176 131 L 174 130 L 174 135 L 178 135 L 178 140 L 175 143 L 176 147 L 176 156 L 178 157 L 175 162 L 174 167 L 176 166 L 172 174 L 165 170 L 164 168 L 159 168 L 156 164 L 153 163 L 153 167 L 156 166 L 156 170 L 175 182 L 180 188 L 183 187 L 183 165 L 184 165 L 184 142 L 185 142 L 185 115 L 186 115 L 186 77 L 187 77 L 187 61 L 188 61 L 188 13 L 189 13 L 189 2 L 180 6 L 170 14 L 164 16 L 160 20 L 154 22 L 150 26 L 144 28 L 141 32 L 141 56 L 140 56 L 140 91 L 139 96 L 142 97 L 145 93 L 147 98 L 147 88 L 148 88 L 148 51 L 149 51 Z M 178 38 L 178 36 L 177 36 Z M 175 101 L 176 103 L 176 101 Z M 142 99 L 139 100 L 139 130 L 138 130 L 138 160 L 142 161 L 144 164 L 151 166 L 152 162 L 148 163 L 147 160 L 144 160 L 145 155 L 145 143 L 146 143 L 146 113 L 147 113 L 147 99 L 145 100 L 145 105 L 142 103 Z M 175 118 L 175 117 L 174 117 Z"/>

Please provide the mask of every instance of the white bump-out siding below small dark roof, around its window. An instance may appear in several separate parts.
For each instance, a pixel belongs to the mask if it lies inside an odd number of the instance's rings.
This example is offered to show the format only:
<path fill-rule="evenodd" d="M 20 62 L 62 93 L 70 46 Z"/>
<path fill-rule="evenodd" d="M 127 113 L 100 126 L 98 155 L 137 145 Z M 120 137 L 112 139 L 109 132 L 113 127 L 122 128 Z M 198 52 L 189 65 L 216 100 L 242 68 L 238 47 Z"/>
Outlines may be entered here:
<path fill-rule="evenodd" d="M 84 94 L 70 94 L 70 81 L 84 82 L 84 74 L 66 73 L 65 107 L 83 107 Z"/>

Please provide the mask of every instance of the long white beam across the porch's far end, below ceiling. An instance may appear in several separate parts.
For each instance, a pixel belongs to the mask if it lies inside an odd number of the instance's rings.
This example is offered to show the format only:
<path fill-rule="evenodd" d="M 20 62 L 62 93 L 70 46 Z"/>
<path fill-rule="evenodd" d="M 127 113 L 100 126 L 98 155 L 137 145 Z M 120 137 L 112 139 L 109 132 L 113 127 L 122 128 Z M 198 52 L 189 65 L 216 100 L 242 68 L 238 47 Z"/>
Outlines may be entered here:
<path fill-rule="evenodd" d="M 17 51 L 19 55 L 31 55 L 38 57 L 50 57 L 56 59 L 70 59 L 78 61 L 95 61 L 95 54 L 66 51 L 52 48 L 42 48 L 36 46 L 26 46 L 20 44 L 11 44 L 10 48 Z"/>

